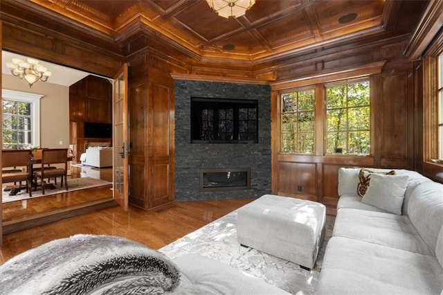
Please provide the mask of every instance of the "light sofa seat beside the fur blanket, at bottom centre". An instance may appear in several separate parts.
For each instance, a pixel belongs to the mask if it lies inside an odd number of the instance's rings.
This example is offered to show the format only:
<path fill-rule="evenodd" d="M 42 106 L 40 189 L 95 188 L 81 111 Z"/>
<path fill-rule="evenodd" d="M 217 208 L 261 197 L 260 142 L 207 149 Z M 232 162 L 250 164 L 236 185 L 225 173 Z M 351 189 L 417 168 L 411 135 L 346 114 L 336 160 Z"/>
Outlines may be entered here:
<path fill-rule="evenodd" d="M 174 259 L 181 282 L 174 294 L 289 294 L 264 280 L 199 254 Z"/>

